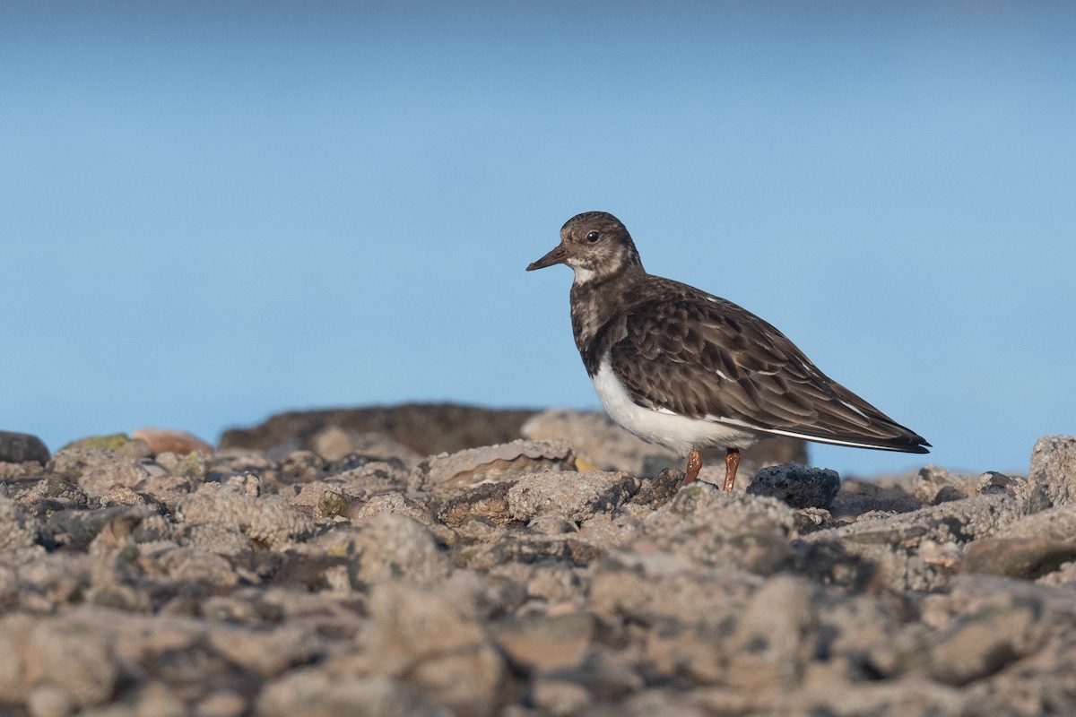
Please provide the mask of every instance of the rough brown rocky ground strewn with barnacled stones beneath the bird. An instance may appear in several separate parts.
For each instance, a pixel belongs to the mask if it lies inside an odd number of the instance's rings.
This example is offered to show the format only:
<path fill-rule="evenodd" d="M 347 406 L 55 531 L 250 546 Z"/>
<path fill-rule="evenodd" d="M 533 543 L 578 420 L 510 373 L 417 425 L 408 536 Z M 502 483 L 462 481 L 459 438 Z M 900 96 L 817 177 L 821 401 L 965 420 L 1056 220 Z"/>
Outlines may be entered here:
<path fill-rule="evenodd" d="M 724 493 L 600 416 L 409 411 L 0 433 L 0 715 L 1076 714 L 1076 438 Z"/>

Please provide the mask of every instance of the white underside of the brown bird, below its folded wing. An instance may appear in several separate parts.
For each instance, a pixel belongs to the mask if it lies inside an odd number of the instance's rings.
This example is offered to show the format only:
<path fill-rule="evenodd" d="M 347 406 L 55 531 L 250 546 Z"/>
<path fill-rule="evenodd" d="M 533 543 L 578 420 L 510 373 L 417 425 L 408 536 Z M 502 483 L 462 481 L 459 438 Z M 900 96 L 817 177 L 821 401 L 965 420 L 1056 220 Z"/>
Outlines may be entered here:
<path fill-rule="evenodd" d="M 692 448 L 746 448 L 761 438 L 755 431 L 717 419 L 686 418 L 664 408 L 655 411 L 640 406 L 612 372 L 608 356 L 594 374 L 594 390 L 610 418 L 643 441 L 680 456 L 688 455 Z"/>

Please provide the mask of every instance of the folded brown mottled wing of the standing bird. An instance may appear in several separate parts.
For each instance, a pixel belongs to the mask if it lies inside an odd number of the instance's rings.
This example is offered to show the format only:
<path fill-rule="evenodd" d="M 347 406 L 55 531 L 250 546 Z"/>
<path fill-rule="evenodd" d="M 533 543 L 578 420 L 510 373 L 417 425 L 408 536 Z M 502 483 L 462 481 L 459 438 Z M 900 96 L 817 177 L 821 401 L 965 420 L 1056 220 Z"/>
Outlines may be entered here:
<path fill-rule="evenodd" d="M 830 443 L 926 453 L 922 436 L 826 377 L 754 314 L 676 282 L 663 288 L 660 300 L 635 303 L 610 346 L 612 370 L 639 405 Z"/>

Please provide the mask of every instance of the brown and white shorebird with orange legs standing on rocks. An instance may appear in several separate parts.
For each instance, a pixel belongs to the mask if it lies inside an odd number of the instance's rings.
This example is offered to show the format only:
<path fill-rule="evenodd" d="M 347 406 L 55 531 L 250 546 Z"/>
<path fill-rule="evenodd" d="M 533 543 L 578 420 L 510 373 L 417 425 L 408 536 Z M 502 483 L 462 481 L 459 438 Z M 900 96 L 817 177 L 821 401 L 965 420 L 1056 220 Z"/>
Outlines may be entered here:
<path fill-rule="evenodd" d="M 901 426 L 822 373 L 783 333 L 748 310 L 642 268 L 624 224 L 584 212 L 527 271 L 567 264 L 571 331 L 606 413 L 643 441 L 686 455 L 725 448 L 724 489 L 740 450 L 769 435 L 930 453 Z"/>

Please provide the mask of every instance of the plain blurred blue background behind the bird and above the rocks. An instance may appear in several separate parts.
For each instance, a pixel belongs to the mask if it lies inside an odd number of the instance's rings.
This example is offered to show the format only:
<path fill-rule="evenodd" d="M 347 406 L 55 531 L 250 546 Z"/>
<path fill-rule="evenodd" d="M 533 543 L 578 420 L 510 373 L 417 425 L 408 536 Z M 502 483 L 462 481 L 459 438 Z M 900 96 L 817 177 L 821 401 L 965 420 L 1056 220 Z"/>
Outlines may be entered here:
<path fill-rule="evenodd" d="M 0 3 L 0 429 L 596 407 L 574 214 L 922 433 L 1076 433 L 1076 12 Z"/>

